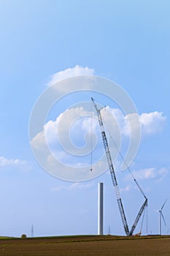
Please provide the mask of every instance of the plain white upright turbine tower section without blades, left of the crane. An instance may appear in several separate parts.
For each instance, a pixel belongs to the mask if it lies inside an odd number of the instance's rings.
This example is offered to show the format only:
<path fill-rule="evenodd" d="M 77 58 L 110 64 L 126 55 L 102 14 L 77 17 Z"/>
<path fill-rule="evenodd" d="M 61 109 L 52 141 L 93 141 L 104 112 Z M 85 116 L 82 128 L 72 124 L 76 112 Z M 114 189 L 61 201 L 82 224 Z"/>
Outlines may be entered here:
<path fill-rule="evenodd" d="M 104 184 L 98 183 L 98 235 L 104 234 Z"/>

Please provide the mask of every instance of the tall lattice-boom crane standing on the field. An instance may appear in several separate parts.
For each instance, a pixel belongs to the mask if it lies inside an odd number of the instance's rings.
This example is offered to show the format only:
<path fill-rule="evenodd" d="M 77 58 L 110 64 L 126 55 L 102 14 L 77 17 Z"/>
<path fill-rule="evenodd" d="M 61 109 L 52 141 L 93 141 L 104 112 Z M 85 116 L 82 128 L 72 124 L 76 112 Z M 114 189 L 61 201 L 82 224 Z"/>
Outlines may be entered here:
<path fill-rule="evenodd" d="M 97 105 L 96 105 L 96 102 L 94 101 L 94 99 L 91 98 L 91 100 L 93 102 L 94 108 L 96 109 L 96 113 L 97 113 L 97 116 L 98 116 L 98 124 L 101 128 L 101 137 L 102 137 L 103 144 L 104 144 L 104 150 L 105 150 L 105 153 L 106 153 L 106 156 L 107 156 L 107 164 L 108 164 L 109 171 L 110 171 L 110 174 L 111 174 L 112 184 L 113 184 L 113 187 L 115 188 L 115 195 L 116 195 L 116 199 L 117 199 L 117 205 L 118 205 L 118 208 L 119 208 L 119 211 L 120 211 L 120 217 L 121 217 L 122 222 L 123 222 L 123 228 L 125 230 L 126 236 L 132 236 L 133 233 L 134 233 L 134 230 L 136 228 L 136 225 L 139 222 L 139 219 L 142 216 L 142 213 L 144 212 L 145 207 L 147 206 L 147 197 L 144 195 L 144 192 L 142 191 L 141 187 L 139 186 L 138 182 L 136 181 L 136 178 L 134 178 L 134 176 L 131 173 L 137 187 L 139 188 L 140 192 L 142 192 L 142 195 L 144 196 L 144 203 L 142 204 L 141 208 L 139 209 L 139 212 L 136 216 L 134 224 L 131 227 L 131 230 L 129 230 L 128 222 L 127 222 L 127 219 L 125 217 L 125 211 L 124 211 L 124 208 L 123 208 L 123 202 L 122 202 L 122 199 L 120 197 L 120 190 L 119 190 L 119 187 L 118 187 L 118 184 L 117 184 L 117 178 L 115 176 L 115 169 L 114 169 L 114 166 L 112 164 L 112 157 L 111 157 L 111 154 L 110 154 L 110 151 L 109 151 L 107 136 L 106 136 L 106 133 L 104 131 L 104 124 L 103 124 L 103 120 L 101 118 L 101 111 L 97 108 Z"/>

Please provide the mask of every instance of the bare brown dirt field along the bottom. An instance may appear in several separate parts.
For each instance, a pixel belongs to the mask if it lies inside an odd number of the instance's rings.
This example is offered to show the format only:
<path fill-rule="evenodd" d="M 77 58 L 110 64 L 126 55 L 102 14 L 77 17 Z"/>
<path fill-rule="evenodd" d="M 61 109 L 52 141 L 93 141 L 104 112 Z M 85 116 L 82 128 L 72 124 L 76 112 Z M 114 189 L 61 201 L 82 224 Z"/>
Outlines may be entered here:
<path fill-rule="evenodd" d="M 9 256 L 157 256 L 170 255 L 170 237 L 0 239 L 0 255 Z"/>

